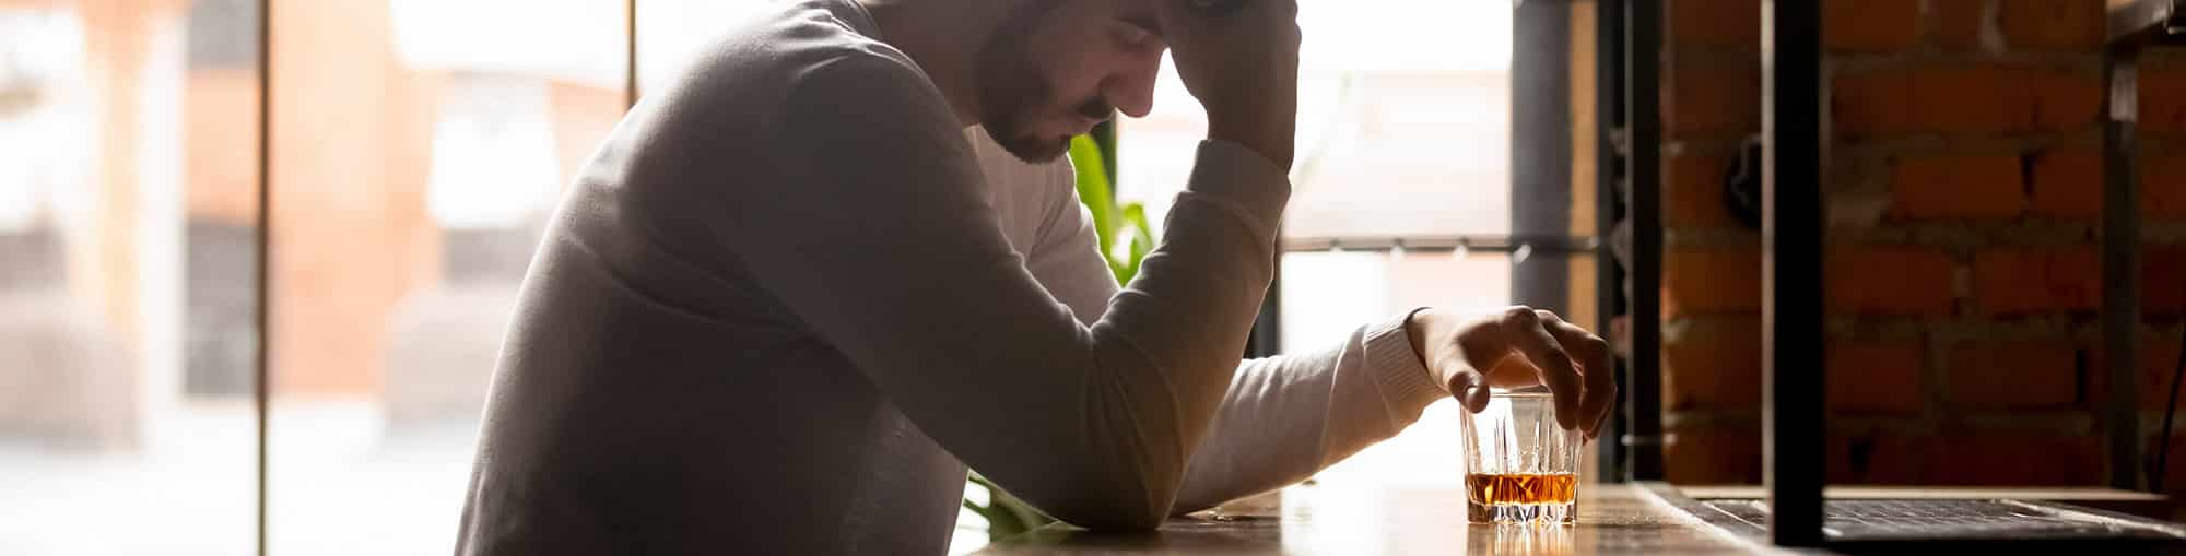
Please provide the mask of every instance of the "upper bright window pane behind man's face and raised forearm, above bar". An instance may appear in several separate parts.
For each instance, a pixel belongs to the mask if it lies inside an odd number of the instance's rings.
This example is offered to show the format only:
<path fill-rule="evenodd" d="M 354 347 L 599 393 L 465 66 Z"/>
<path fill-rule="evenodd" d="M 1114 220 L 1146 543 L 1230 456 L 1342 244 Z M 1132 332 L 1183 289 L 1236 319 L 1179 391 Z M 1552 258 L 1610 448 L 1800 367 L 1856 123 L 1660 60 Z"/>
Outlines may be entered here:
<path fill-rule="evenodd" d="M 1506 2 L 1305 0 L 1298 26 L 1285 236 L 1508 232 Z M 1119 125 L 1117 182 L 1167 212 L 1207 123 L 1174 63 L 1154 94 L 1154 114 Z"/>

